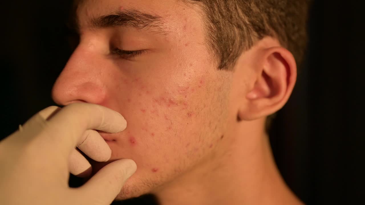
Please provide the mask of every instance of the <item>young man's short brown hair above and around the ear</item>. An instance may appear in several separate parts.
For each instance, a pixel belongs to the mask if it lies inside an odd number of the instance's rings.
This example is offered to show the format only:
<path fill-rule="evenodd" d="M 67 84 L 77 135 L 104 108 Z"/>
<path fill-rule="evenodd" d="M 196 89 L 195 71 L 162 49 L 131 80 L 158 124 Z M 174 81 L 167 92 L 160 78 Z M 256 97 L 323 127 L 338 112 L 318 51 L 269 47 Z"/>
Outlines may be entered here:
<path fill-rule="evenodd" d="M 278 39 L 300 64 L 307 44 L 310 0 L 183 0 L 205 11 L 208 43 L 219 69 L 229 69 L 239 55 L 265 36 Z"/>

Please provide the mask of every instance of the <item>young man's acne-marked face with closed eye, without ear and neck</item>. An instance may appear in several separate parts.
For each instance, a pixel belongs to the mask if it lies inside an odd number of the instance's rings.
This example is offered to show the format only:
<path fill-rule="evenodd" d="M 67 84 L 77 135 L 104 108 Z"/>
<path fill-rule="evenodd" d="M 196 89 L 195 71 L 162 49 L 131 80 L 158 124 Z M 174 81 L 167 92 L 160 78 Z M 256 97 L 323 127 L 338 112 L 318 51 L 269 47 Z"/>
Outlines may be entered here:
<path fill-rule="evenodd" d="M 130 16 L 98 20 L 117 13 Z M 129 22 L 135 13 L 142 16 Z M 102 134 L 111 160 L 137 163 L 118 198 L 151 192 L 209 159 L 235 113 L 228 109 L 232 73 L 216 69 L 203 12 L 176 0 L 85 0 L 77 15 L 80 44 L 53 97 L 100 104 L 127 120 L 125 131 Z M 111 19 L 121 26 L 104 27 Z"/>

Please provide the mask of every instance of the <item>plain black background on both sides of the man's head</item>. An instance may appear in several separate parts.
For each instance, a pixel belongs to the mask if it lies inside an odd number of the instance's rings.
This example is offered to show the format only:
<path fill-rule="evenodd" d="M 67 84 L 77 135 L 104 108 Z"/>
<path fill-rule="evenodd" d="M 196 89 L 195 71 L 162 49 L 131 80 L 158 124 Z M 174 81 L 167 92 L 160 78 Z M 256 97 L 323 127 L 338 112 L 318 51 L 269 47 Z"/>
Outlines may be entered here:
<path fill-rule="evenodd" d="M 364 198 L 360 2 L 314 1 L 306 61 L 270 130 L 277 165 L 306 204 L 352 204 Z M 72 51 L 65 26 L 69 1 L 0 5 L 1 139 L 54 104 L 51 87 Z"/>

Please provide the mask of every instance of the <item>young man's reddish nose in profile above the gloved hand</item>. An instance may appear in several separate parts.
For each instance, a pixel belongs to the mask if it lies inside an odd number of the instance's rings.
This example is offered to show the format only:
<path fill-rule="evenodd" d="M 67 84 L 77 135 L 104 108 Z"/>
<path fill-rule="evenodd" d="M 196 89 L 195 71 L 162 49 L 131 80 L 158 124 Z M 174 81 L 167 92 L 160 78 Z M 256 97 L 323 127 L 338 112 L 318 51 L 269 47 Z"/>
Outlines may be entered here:
<path fill-rule="evenodd" d="M 78 46 L 57 78 L 52 98 L 59 105 L 73 102 L 103 104 L 107 96 L 107 59 L 88 47 Z"/>

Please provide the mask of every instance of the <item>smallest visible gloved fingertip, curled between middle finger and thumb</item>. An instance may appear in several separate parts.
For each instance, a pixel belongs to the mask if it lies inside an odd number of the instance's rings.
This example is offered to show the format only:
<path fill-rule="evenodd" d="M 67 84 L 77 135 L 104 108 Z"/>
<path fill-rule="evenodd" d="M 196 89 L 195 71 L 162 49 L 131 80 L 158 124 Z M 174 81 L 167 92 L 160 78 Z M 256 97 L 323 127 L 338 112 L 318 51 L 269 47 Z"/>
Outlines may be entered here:
<path fill-rule="evenodd" d="M 69 159 L 69 171 L 77 177 L 88 177 L 91 174 L 91 165 L 87 159 L 74 149 L 71 151 Z"/>

